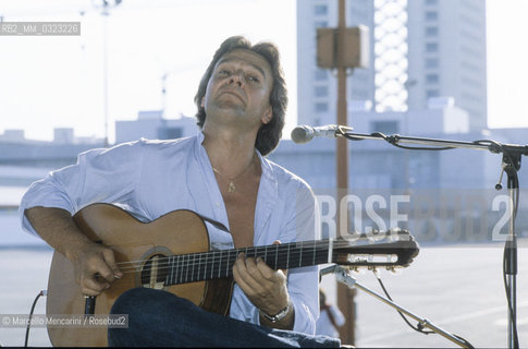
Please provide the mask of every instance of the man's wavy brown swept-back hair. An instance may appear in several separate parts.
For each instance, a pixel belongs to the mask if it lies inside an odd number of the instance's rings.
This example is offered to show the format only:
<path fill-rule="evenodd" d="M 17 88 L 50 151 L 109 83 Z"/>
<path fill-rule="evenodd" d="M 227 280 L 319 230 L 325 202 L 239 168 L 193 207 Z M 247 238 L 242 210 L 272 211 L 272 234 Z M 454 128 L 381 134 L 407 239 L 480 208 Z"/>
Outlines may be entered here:
<path fill-rule="evenodd" d="M 267 124 L 260 127 L 255 141 L 255 147 L 262 155 L 267 155 L 273 151 L 282 136 L 282 129 L 284 128 L 284 118 L 287 107 L 287 88 L 284 81 L 284 72 L 281 68 L 279 49 L 271 43 L 259 43 L 251 45 L 251 43 L 243 36 L 233 36 L 228 38 L 220 45 L 220 48 L 214 52 L 212 61 L 209 63 L 204 76 L 201 76 L 198 92 L 195 96 L 195 104 L 198 107 L 196 118 L 197 124 L 201 129 L 206 121 L 206 110 L 201 107 L 201 98 L 206 95 L 207 84 L 211 79 L 214 65 L 224 56 L 235 49 L 246 49 L 263 57 L 271 67 L 273 75 L 273 85 L 270 93 L 270 105 L 273 110 L 273 117 Z"/>

